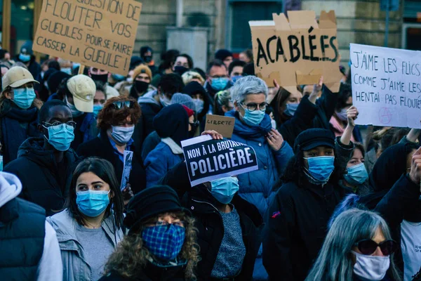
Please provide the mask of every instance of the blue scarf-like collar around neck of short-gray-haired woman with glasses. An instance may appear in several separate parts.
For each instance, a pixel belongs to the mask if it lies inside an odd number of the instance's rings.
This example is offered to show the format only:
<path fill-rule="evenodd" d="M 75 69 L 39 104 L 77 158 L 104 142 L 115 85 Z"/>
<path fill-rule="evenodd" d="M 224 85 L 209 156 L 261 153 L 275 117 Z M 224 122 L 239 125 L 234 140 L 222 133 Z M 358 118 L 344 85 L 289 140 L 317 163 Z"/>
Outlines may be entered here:
<path fill-rule="evenodd" d="M 258 126 L 248 126 L 248 124 L 241 122 L 239 112 L 236 110 L 231 110 L 225 113 L 225 116 L 235 118 L 234 134 L 246 139 L 265 137 L 272 129 L 272 123 L 269 115 L 265 115 Z"/>

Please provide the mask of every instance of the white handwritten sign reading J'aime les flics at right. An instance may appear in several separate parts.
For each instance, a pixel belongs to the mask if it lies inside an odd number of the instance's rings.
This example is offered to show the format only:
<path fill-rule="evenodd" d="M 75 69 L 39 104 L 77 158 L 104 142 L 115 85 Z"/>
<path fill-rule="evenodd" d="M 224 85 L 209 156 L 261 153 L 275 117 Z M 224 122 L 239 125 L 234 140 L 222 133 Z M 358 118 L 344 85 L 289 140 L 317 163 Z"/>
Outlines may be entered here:
<path fill-rule="evenodd" d="M 421 129 L 421 53 L 351 44 L 356 124 Z"/>

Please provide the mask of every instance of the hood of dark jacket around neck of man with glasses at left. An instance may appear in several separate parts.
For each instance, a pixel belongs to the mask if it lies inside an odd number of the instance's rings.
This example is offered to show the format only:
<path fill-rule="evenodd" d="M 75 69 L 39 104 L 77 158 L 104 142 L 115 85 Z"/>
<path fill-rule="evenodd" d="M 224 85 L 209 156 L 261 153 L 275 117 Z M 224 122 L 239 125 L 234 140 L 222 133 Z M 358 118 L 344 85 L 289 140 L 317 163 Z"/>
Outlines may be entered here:
<path fill-rule="evenodd" d="M 18 151 L 18 158 L 26 157 L 27 159 L 35 162 L 39 166 L 45 166 L 51 171 L 55 170 L 55 157 L 53 150 L 44 150 L 44 139 L 43 138 L 28 138 L 22 145 L 20 145 Z M 67 163 L 72 164 L 78 159 L 76 152 L 69 148 L 65 151 L 65 157 Z"/>

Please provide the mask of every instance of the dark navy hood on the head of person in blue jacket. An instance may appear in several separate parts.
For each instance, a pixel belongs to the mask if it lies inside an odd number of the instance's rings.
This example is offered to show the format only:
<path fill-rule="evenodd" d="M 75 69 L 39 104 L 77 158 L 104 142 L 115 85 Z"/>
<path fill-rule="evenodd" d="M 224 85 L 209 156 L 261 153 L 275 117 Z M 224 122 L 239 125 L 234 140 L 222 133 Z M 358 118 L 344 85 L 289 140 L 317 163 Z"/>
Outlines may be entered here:
<path fill-rule="evenodd" d="M 172 138 L 181 146 L 189 138 L 189 116 L 182 105 L 168 105 L 154 117 L 154 129 L 160 138 Z"/>

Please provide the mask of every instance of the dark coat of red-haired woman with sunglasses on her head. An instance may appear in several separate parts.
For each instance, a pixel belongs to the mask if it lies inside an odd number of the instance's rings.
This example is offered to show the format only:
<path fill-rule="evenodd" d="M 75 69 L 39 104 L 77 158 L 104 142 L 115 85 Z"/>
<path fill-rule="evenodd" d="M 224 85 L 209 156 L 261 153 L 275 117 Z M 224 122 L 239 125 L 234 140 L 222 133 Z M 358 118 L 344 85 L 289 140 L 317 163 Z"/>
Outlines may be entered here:
<path fill-rule="evenodd" d="M 138 157 L 138 149 L 135 147 L 135 143 L 131 145 L 131 151 L 133 151 L 132 170 L 128 183 L 131 184 L 133 192 L 139 192 L 146 186 L 146 174 L 143 169 L 142 159 Z M 91 141 L 83 143 L 77 150 L 81 157 L 100 157 L 111 162 L 112 166 L 116 171 L 116 178 L 118 183 L 121 183 L 121 176 L 123 175 L 123 162 L 119 159 L 119 155 L 116 155 L 114 148 L 109 142 L 107 131 L 101 131 L 100 136 L 94 138 Z"/>

